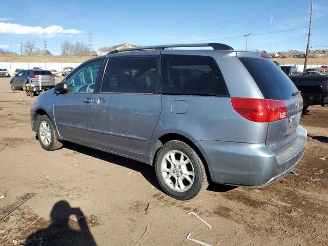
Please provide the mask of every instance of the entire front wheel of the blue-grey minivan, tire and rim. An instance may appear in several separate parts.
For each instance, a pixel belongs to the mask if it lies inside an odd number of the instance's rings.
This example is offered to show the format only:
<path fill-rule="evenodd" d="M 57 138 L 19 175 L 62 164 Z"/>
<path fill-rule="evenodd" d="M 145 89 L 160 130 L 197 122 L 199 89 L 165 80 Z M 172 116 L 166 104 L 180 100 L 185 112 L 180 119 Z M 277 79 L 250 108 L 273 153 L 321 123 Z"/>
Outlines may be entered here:
<path fill-rule="evenodd" d="M 57 140 L 56 132 L 47 115 L 39 115 L 37 117 L 37 137 L 42 148 L 48 151 L 58 150 L 63 144 Z"/>

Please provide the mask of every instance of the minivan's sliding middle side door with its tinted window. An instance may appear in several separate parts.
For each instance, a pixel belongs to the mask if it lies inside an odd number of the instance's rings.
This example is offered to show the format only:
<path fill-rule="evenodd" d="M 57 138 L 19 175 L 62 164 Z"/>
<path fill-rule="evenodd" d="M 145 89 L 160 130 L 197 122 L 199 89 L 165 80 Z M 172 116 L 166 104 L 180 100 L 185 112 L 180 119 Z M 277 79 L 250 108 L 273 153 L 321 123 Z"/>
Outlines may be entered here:
<path fill-rule="evenodd" d="M 145 156 L 161 111 L 157 68 L 155 55 L 109 59 L 93 104 L 97 147 Z"/>

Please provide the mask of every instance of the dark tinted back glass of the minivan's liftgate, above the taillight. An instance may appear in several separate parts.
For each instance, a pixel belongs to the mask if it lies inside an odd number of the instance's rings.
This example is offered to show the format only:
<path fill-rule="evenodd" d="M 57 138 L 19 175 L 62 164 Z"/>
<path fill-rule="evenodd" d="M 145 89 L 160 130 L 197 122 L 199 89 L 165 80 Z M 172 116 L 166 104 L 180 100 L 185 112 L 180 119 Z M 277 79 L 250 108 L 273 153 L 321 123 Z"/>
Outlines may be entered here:
<path fill-rule="evenodd" d="M 271 60 L 239 57 L 261 90 L 264 98 L 289 100 L 297 90 L 292 80 Z"/>

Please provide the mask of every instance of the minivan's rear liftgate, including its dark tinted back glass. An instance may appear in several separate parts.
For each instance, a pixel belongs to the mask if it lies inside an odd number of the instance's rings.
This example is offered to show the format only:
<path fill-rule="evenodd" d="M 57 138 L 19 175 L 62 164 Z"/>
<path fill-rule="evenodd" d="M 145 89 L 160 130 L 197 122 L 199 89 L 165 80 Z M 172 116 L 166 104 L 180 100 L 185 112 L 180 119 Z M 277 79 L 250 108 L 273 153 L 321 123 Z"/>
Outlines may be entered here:
<path fill-rule="evenodd" d="M 290 147 L 297 141 L 297 127 L 303 108 L 300 92 L 272 60 L 261 58 L 260 54 L 258 57 L 243 57 L 241 54 L 238 58 L 252 75 L 264 99 L 283 101 L 286 106 L 286 118 L 269 122 L 265 145 L 277 155 L 291 150 Z"/>

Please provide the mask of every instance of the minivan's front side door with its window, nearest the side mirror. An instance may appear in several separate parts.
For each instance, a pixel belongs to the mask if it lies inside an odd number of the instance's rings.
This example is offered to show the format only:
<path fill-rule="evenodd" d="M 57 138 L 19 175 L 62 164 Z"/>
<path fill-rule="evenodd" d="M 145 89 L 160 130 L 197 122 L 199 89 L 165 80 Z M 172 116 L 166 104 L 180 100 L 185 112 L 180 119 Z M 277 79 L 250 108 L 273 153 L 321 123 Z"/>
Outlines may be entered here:
<path fill-rule="evenodd" d="M 95 146 L 92 104 L 103 62 L 104 58 L 92 61 L 66 78 L 68 92 L 58 94 L 54 103 L 54 118 L 61 137 Z"/>

